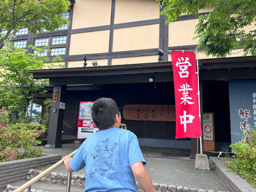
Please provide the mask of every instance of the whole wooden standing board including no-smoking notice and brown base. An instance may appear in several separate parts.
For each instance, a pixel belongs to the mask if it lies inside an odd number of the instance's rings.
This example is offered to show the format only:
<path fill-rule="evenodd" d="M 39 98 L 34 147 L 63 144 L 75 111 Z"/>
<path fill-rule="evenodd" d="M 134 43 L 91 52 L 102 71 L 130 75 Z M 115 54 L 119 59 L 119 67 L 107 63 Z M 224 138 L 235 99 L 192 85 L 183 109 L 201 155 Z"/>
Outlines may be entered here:
<path fill-rule="evenodd" d="M 203 114 L 203 126 L 204 126 L 204 151 L 215 150 L 215 138 L 214 138 L 214 114 Z"/>

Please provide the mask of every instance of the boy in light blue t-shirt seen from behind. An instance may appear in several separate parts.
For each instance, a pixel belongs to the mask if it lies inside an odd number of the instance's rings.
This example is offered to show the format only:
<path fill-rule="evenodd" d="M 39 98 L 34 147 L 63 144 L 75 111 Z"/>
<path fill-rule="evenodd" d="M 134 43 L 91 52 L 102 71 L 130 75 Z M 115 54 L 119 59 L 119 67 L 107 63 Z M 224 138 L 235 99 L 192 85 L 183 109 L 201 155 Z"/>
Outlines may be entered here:
<path fill-rule="evenodd" d="M 100 98 L 92 105 L 92 120 L 101 130 L 92 134 L 78 148 L 73 158 L 62 158 L 68 172 L 86 165 L 84 192 L 136 191 L 135 179 L 145 192 L 156 192 L 144 168 L 136 135 L 120 129 L 121 115 L 116 102 Z"/>

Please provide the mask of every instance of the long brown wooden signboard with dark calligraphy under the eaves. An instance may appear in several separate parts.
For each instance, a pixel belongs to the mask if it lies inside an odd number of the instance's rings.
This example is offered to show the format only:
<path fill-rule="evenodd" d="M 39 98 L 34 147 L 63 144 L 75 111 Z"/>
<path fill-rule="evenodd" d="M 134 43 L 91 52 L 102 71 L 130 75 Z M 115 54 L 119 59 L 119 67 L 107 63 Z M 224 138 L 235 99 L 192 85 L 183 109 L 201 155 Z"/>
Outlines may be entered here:
<path fill-rule="evenodd" d="M 176 121 L 175 105 L 125 105 L 124 119 L 139 121 Z"/>

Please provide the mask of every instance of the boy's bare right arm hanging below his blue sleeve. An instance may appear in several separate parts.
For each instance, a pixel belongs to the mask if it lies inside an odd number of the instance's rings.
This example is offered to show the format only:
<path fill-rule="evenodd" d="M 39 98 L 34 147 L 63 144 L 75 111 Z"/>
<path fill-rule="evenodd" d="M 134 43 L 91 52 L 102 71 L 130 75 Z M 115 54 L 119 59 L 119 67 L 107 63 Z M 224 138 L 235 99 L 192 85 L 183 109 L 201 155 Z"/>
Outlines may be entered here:
<path fill-rule="evenodd" d="M 156 189 L 152 184 L 150 175 L 141 161 L 132 164 L 131 169 L 134 177 L 139 182 L 141 188 L 145 192 L 156 192 Z"/>

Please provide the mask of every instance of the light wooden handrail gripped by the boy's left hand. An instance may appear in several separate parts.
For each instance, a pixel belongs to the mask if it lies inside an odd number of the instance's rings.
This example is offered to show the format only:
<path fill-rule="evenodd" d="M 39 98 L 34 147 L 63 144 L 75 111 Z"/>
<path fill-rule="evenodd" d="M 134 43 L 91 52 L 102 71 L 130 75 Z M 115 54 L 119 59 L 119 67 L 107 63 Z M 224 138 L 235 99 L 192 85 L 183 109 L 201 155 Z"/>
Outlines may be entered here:
<path fill-rule="evenodd" d="M 73 157 L 76 153 L 77 149 L 75 151 L 73 151 L 72 153 L 70 153 L 68 156 L 69 157 Z M 58 161 L 57 163 L 53 164 L 51 167 L 49 167 L 48 169 L 44 170 L 42 173 L 40 173 L 39 175 L 37 175 L 36 177 L 34 177 L 33 179 L 29 180 L 27 183 L 23 184 L 22 186 L 20 186 L 19 188 L 17 188 L 16 190 L 14 190 L 13 192 L 21 192 L 24 191 L 26 188 L 28 188 L 29 186 L 33 185 L 36 181 L 40 180 L 42 177 L 44 177 L 45 175 L 47 175 L 49 172 L 51 172 L 52 170 L 56 169 L 57 167 L 59 167 L 61 164 L 63 164 L 63 160 L 61 159 L 60 161 Z"/>

